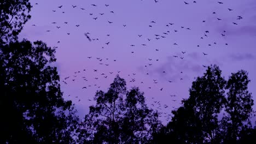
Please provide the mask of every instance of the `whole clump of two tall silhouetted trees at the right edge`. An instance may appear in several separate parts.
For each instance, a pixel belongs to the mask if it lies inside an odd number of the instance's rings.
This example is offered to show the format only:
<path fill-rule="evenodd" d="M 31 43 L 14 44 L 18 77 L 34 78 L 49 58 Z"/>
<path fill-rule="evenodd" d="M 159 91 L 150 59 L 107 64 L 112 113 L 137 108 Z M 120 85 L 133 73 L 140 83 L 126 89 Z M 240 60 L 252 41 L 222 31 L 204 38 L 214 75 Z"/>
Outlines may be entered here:
<path fill-rule="evenodd" d="M 255 140 L 251 128 L 253 99 L 248 92 L 248 73 L 232 73 L 228 81 L 221 70 L 211 65 L 189 89 L 190 97 L 172 111 L 172 121 L 155 135 L 154 142 L 174 143 L 247 143 Z M 228 90 L 225 97 L 225 88 Z M 224 116 L 218 117 L 223 107 Z"/>

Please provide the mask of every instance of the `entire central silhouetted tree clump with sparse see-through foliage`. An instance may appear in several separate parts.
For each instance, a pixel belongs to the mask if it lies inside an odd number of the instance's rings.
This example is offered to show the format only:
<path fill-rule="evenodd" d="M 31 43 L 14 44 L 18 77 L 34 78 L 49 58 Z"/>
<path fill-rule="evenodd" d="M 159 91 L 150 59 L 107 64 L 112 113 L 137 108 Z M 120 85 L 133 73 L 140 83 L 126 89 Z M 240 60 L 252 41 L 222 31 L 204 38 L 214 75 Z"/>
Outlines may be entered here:
<path fill-rule="evenodd" d="M 143 94 L 137 87 L 126 91 L 125 80 L 117 75 L 106 93 L 96 92 L 96 105 L 90 106 L 83 125 L 89 136 L 80 135 L 82 142 L 147 143 L 152 140 L 160 122 L 157 112 L 147 107 Z"/>

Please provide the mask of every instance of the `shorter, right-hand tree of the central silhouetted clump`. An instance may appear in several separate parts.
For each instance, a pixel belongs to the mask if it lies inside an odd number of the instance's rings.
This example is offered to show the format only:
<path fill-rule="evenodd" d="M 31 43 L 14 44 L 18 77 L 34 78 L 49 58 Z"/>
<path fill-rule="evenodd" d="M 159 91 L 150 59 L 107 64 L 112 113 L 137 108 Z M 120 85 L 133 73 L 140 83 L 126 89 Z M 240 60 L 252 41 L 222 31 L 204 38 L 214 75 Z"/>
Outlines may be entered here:
<path fill-rule="evenodd" d="M 121 124 L 121 140 L 126 143 L 147 143 L 162 126 L 158 121 L 159 113 L 148 109 L 143 95 L 138 87 L 132 87 L 126 94 Z"/>

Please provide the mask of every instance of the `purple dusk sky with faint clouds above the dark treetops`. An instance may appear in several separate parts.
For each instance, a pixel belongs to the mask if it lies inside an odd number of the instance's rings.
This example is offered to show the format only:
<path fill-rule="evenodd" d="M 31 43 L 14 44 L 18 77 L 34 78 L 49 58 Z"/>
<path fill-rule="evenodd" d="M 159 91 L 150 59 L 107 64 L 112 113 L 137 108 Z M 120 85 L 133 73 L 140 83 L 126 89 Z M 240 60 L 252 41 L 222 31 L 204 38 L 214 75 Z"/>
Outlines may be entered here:
<path fill-rule="evenodd" d="M 128 89 L 144 92 L 148 106 L 162 112 L 166 123 L 171 110 L 189 97 L 195 77 L 205 72 L 203 65 L 211 64 L 226 80 L 248 71 L 256 101 L 256 1 L 185 2 L 32 0 L 32 18 L 20 38 L 57 47 L 54 65 L 63 97 L 73 101 L 80 117 L 95 104 L 96 91 L 107 91 L 119 74 Z"/>

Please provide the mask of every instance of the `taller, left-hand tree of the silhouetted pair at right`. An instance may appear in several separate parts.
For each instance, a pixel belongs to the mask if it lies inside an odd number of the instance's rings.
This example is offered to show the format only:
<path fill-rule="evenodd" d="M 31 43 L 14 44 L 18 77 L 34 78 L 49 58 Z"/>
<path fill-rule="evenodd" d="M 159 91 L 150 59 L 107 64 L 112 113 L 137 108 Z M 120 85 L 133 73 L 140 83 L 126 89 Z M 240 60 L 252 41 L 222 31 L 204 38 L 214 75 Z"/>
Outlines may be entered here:
<path fill-rule="evenodd" d="M 167 140 L 176 143 L 218 143 L 218 114 L 225 102 L 225 80 L 216 65 L 197 77 L 189 89 L 190 97 L 172 111 L 172 121 L 162 131 Z M 161 137 L 161 136 L 160 136 Z"/>

